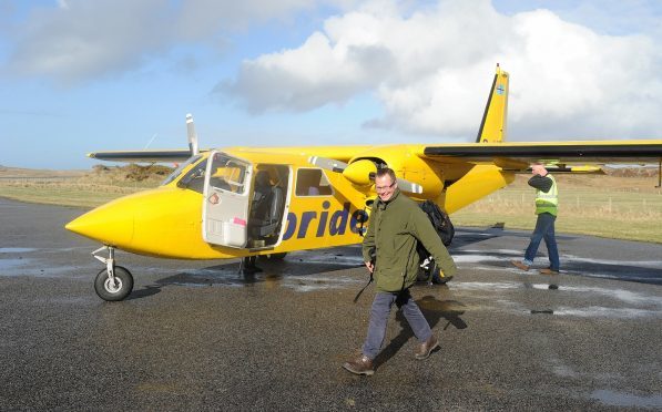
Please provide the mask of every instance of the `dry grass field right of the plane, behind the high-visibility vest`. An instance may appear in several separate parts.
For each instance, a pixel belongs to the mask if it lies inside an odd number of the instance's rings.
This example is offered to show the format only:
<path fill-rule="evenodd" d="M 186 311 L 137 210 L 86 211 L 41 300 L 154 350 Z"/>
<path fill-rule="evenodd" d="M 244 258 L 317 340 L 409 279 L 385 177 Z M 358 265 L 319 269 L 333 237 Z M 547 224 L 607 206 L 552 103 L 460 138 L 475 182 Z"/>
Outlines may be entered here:
<path fill-rule="evenodd" d="M 662 190 L 656 178 L 558 176 L 557 231 L 662 243 Z M 454 214 L 458 226 L 533 229 L 534 190 L 524 176 Z"/>

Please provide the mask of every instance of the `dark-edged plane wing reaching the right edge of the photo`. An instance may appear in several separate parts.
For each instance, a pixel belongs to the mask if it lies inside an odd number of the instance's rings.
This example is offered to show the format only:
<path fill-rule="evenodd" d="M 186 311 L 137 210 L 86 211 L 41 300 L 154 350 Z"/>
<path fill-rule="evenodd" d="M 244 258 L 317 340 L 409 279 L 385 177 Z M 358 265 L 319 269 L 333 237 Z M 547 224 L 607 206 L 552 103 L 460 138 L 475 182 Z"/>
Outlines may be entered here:
<path fill-rule="evenodd" d="M 662 159 L 662 140 L 448 144 L 424 146 L 418 155 L 441 163 L 496 164 L 512 171 L 528 168 L 534 162 L 641 164 Z"/>

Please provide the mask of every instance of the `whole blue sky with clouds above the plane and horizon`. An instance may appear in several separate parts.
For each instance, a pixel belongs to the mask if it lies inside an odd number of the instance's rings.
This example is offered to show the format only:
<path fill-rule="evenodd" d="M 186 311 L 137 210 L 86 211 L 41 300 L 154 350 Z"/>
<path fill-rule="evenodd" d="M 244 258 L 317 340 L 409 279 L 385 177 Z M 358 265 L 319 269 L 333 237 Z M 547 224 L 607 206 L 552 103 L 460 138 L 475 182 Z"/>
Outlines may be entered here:
<path fill-rule="evenodd" d="M 0 0 L 0 165 L 88 152 L 661 138 L 662 3 Z"/>

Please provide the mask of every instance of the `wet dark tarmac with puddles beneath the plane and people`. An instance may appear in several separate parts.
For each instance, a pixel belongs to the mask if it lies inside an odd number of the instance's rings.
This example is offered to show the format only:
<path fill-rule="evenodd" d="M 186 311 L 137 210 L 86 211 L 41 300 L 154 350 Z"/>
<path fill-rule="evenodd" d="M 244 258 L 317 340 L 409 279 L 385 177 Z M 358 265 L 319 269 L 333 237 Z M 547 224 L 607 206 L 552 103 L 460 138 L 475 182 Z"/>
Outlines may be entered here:
<path fill-rule="evenodd" d="M 366 378 L 340 368 L 374 293 L 353 303 L 358 247 L 253 276 L 119 253 L 134 291 L 105 302 L 99 245 L 63 229 L 82 212 L 0 199 L 0 410 L 662 410 L 662 245 L 560 235 L 546 277 L 509 265 L 528 233 L 460 228 L 459 275 L 413 289 L 441 350 L 415 360 L 394 313 Z"/>

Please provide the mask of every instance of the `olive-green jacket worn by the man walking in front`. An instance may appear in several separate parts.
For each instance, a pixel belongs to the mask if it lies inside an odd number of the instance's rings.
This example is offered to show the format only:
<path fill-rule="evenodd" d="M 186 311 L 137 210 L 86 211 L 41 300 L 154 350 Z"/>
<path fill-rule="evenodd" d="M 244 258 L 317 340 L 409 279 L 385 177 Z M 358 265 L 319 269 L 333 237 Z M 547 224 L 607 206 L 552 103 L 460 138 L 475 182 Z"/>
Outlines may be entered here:
<path fill-rule="evenodd" d="M 425 212 L 399 189 L 388 202 L 375 200 L 363 243 L 365 261 L 376 254 L 373 276 L 377 291 L 397 292 L 414 285 L 418 275 L 417 239 L 432 255 L 445 276 L 457 272 L 455 261 Z"/>

